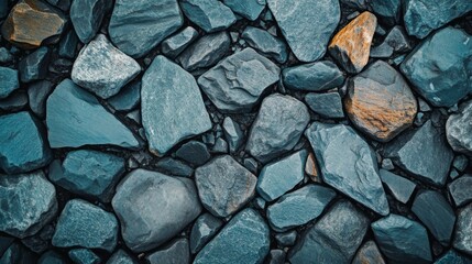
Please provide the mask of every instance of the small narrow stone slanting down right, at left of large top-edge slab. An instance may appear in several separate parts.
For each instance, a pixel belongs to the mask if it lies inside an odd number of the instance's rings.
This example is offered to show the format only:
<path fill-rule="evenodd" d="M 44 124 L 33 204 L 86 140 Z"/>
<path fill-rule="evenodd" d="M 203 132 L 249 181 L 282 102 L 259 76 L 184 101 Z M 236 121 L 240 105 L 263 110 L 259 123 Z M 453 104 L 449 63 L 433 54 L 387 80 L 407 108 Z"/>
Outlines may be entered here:
<path fill-rule="evenodd" d="M 238 2 L 240 1 L 238 0 Z M 257 50 L 260 53 L 272 57 L 278 63 L 283 64 L 287 61 L 287 45 L 285 45 L 285 42 L 271 35 L 267 31 L 254 26 L 248 26 L 242 32 L 241 37 L 244 38 L 250 46 Z"/>

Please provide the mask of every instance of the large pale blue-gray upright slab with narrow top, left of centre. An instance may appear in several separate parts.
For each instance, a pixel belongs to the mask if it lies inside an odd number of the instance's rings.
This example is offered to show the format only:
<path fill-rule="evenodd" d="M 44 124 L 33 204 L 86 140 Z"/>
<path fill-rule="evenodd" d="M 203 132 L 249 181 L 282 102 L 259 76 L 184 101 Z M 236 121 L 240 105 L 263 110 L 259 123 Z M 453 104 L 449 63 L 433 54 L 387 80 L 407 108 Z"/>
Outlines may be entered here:
<path fill-rule="evenodd" d="M 211 129 L 194 76 L 164 56 L 155 57 L 144 73 L 141 114 L 150 151 L 157 156 Z"/>

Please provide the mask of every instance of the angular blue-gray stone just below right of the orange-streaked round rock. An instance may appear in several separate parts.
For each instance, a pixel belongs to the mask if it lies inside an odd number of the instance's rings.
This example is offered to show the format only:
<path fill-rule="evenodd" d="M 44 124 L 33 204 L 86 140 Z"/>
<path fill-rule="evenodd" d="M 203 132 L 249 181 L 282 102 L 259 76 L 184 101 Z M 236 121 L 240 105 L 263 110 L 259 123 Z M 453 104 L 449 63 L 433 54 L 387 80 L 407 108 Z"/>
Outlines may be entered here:
<path fill-rule="evenodd" d="M 427 121 L 421 128 L 402 134 L 384 151 L 395 165 L 429 184 L 442 186 L 453 158 L 440 129 Z"/>

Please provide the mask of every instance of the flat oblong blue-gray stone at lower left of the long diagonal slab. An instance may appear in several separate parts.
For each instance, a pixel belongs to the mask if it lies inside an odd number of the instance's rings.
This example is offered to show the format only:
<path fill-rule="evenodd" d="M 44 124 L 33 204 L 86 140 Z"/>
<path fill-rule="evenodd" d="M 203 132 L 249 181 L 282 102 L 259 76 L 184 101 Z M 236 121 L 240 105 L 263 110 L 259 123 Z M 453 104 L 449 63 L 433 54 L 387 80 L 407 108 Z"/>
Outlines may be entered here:
<path fill-rule="evenodd" d="M 334 196 L 332 189 L 312 184 L 288 193 L 268 206 L 267 218 L 271 227 L 283 232 L 315 220 Z"/>

